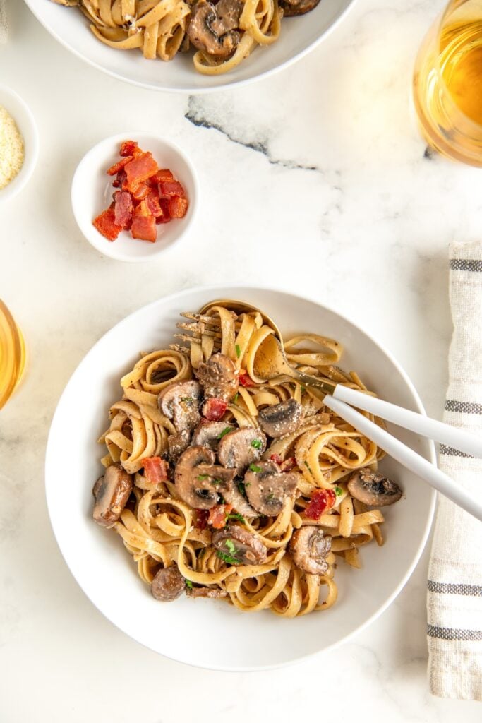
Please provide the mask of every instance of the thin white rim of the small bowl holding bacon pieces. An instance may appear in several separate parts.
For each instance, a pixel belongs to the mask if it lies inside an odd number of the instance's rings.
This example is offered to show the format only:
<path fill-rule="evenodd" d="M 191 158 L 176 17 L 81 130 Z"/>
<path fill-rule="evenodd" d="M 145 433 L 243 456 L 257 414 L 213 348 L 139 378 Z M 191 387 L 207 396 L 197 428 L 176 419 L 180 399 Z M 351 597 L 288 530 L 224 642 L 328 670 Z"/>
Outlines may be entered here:
<path fill-rule="evenodd" d="M 86 234 L 84 229 L 79 223 L 79 217 L 77 215 L 76 209 L 77 209 L 77 196 L 74 200 L 74 187 L 75 184 L 79 181 L 80 171 L 82 171 L 81 166 L 87 162 L 87 159 L 90 158 L 91 155 L 95 153 L 96 150 L 98 150 L 103 145 L 107 144 L 108 142 L 120 142 L 121 140 L 126 140 L 127 138 L 136 138 L 136 137 L 146 137 L 146 138 L 152 138 L 155 141 L 160 141 L 164 143 L 166 146 L 171 148 L 171 150 L 176 153 L 176 155 L 181 158 L 184 163 L 186 163 L 186 168 L 189 170 L 189 174 L 191 176 L 192 185 L 194 187 L 194 194 L 189 197 L 189 209 L 188 213 L 190 213 L 190 218 L 188 223 L 186 223 L 186 227 L 183 231 L 181 231 L 180 234 L 176 237 L 176 239 L 173 239 L 173 241 L 169 241 L 168 244 L 165 246 L 159 244 L 158 247 L 155 247 L 152 250 L 152 253 L 148 256 L 131 256 L 128 253 L 125 252 L 119 252 L 116 250 L 115 242 L 108 242 L 106 240 L 106 247 L 100 247 L 100 244 L 96 242 L 96 236 L 95 234 L 98 234 L 98 231 L 92 226 L 93 231 L 91 232 L 91 229 L 89 228 L 89 231 L 91 233 Z M 148 142 L 148 141 L 147 141 Z M 122 261 L 126 263 L 148 263 L 155 261 L 159 256 L 162 254 L 168 253 L 173 247 L 177 246 L 178 242 L 181 241 L 181 239 L 186 236 L 189 229 L 191 228 L 192 224 L 194 223 L 197 211 L 199 209 L 199 179 L 197 176 L 196 168 L 194 167 L 194 163 L 191 161 L 188 155 L 186 155 L 185 151 L 181 149 L 175 142 L 169 140 L 168 138 L 165 138 L 163 136 L 160 136 L 156 133 L 152 133 L 150 131 L 126 131 L 126 132 L 120 132 L 120 133 L 114 133 L 113 135 L 106 136 L 105 138 L 102 138 L 99 140 L 95 145 L 92 145 L 89 150 L 86 151 L 84 155 L 82 155 L 82 158 L 80 159 L 79 163 L 77 163 L 77 166 L 74 170 L 74 174 L 72 175 L 72 182 L 70 184 L 70 203 L 72 207 L 72 213 L 74 215 L 75 222 L 77 223 L 77 227 L 79 228 L 80 233 L 84 238 L 90 243 L 92 248 L 94 248 L 99 254 L 102 254 L 103 256 L 110 257 L 113 260 L 116 261 Z M 101 234 L 99 234 L 100 236 Z M 134 239 L 132 239 L 134 241 Z M 153 244 L 155 246 L 155 244 Z"/>

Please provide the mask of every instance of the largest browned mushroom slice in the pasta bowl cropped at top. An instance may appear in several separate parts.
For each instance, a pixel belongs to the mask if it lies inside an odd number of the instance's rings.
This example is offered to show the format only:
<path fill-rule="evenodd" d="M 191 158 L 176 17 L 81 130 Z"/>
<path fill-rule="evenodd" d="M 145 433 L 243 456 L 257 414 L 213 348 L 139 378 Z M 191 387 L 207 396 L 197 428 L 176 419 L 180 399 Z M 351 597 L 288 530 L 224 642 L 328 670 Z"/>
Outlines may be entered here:
<path fill-rule="evenodd" d="M 203 0 L 191 9 L 187 34 L 194 48 L 215 58 L 227 58 L 236 49 L 240 34 L 235 28 L 244 4 L 240 0 L 220 0 L 213 5 Z"/>

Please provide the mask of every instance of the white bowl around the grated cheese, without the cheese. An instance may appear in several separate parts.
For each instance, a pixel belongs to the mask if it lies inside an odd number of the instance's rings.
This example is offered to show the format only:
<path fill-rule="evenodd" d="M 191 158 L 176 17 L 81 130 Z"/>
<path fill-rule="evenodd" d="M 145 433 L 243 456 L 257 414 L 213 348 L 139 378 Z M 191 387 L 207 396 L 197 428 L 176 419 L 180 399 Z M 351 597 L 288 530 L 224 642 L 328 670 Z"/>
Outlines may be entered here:
<path fill-rule="evenodd" d="M 38 161 L 38 130 L 32 111 L 12 88 L 0 85 L 0 106 L 3 106 L 14 119 L 24 140 L 24 161 L 14 179 L 0 189 L 0 206 L 12 199 L 27 184 Z"/>

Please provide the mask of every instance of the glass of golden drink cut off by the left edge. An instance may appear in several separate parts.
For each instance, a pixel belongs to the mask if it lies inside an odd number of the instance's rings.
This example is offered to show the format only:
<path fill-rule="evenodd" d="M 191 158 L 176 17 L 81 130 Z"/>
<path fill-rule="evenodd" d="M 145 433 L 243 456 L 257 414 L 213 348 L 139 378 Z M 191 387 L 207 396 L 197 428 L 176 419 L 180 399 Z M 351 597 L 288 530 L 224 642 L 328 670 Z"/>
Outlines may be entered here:
<path fill-rule="evenodd" d="M 25 364 L 25 341 L 22 332 L 0 299 L 0 409 L 20 384 Z"/>

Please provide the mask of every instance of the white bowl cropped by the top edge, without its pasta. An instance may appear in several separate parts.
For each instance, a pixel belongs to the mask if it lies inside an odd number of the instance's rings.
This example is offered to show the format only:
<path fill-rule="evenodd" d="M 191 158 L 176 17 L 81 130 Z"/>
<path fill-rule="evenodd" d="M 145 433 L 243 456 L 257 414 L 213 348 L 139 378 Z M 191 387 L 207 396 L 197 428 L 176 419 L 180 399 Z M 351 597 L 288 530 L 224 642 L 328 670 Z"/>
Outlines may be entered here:
<path fill-rule="evenodd" d="M 145 60 L 138 49 L 109 48 L 90 32 L 89 22 L 77 8 L 48 0 L 25 0 L 46 30 L 72 53 L 120 80 L 153 90 L 205 93 L 244 85 L 288 67 L 315 48 L 345 16 L 354 0 L 320 0 L 311 12 L 282 20 L 280 38 L 251 56 L 228 74 L 199 74 L 192 53 L 178 53 L 173 61 Z"/>

